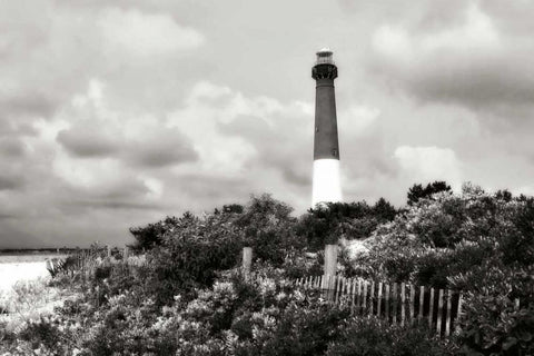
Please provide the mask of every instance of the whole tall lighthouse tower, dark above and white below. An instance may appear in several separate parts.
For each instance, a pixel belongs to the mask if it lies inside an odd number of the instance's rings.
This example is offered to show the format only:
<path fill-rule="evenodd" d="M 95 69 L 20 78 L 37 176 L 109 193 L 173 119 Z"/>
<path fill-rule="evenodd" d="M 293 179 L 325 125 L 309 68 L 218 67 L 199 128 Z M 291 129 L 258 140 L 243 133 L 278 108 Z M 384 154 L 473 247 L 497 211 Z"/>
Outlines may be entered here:
<path fill-rule="evenodd" d="M 339 144 L 337 140 L 336 97 L 334 79 L 337 67 L 333 52 L 325 48 L 317 52 L 312 69 L 315 90 L 314 187 L 312 207 L 319 202 L 342 200 L 339 179 Z"/>

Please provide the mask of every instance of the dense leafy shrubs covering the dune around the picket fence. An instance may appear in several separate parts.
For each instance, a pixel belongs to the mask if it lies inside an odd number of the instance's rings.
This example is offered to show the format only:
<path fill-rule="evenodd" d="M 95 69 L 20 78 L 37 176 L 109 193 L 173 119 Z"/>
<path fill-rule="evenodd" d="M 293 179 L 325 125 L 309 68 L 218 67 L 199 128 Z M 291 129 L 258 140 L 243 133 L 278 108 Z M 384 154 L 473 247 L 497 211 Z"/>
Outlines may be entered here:
<path fill-rule="evenodd" d="M 421 188 L 421 189 L 419 189 Z M 329 204 L 299 218 L 270 196 L 131 229 L 137 256 L 102 260 L 51 317 L 0 327 L 0 350 L 26 355 L 532 355 L 534 199 L 445 182 L 384 199 Z M 466 316 L 448 339 L 424 325 L 350 316 L 294 278 L 322 273 L 322 248 L 363 239 L 346 276 L 461 289 Z M 254 250 L 254 278 L 239 270 Z M 516 308 L 514 299 L 520 298 Z M 2 349 L 3 347 L 3 349 Z"/>

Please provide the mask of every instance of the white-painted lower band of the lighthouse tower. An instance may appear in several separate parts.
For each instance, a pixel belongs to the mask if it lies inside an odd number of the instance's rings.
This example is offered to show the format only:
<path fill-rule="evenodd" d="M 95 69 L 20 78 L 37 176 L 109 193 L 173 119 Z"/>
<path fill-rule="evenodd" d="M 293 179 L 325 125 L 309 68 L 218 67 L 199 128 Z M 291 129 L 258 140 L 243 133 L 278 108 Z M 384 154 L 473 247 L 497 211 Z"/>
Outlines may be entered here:
<path fill-rule="evenodd" d="M 312 207 L 318 202 L 342 201 L 342 185 L 338 159 L 314 160 L 314 187 L 312 191 Z"/>

